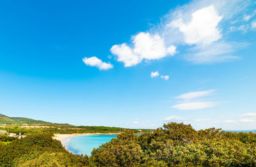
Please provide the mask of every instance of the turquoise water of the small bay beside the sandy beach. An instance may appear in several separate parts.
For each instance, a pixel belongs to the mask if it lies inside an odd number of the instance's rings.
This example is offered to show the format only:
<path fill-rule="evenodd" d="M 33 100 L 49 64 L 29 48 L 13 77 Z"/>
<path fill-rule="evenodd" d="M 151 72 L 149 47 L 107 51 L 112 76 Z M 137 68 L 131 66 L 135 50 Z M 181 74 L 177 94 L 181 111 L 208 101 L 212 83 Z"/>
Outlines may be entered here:
<path fill-rule="evenodd" d="M 91 155 L 93 148 L 109 142 L 116 135 L 84 135 L 75 136 L 67 142 L 67 150 L 73 154 Z"/>

